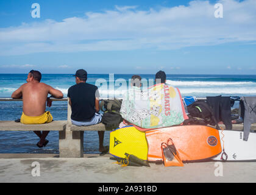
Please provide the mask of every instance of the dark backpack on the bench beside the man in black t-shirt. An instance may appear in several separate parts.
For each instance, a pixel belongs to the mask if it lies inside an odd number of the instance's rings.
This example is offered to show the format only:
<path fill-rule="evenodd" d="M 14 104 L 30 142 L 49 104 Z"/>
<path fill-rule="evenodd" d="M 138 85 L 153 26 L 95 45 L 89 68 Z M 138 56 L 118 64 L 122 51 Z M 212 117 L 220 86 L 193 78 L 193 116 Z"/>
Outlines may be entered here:
<path fill-rule="evenodd" d="M 122 100 L 119 99 L 101 101 L 100 108 L 104 112 L 101 122 L 105 125 L 105 130 L 117 129 L 123 121 L 119 114 L 121 105 Z"/>

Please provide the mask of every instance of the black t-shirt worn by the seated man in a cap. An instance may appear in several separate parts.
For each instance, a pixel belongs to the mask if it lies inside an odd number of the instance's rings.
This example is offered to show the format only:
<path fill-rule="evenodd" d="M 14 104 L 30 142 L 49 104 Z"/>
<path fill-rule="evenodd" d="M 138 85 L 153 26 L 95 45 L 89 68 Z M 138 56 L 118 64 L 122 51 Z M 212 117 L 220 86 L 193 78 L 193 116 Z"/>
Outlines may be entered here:
<path fill-rule="evenodd" d="M 79 83 L 68 89 L 71 99 L 71 119 L 88 121 L 95 113 L 95 98 L 99 98 L 98 87 L 89 83 Z"/>

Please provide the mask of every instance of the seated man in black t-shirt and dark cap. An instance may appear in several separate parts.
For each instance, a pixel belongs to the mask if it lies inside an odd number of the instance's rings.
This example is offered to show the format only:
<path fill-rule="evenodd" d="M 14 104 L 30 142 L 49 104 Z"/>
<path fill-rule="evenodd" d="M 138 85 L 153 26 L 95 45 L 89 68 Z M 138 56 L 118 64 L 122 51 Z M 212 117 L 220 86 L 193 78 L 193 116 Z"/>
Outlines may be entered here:
<path fill-rule="evenodd" d="M 76 126 L 91 126 L 101 122 L 102 115 L 99 112 L 99 90 L 95 85 L 86 83 L 87 71 L 76 71 L 76 85 L 68 89 L 68 101 L 71 106 L 72 124 Z M 108 147 L 103 146 L 104 131 L 98 131 L 99 151 L 108 152 Z"/>

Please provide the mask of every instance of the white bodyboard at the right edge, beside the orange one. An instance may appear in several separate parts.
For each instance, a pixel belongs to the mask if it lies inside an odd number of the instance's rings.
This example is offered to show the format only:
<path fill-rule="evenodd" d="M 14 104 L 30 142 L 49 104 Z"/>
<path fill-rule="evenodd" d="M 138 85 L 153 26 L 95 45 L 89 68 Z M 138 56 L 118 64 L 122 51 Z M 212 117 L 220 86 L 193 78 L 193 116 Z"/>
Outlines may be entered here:
<path fill-rule="evenodd" d="M 256 133 L 251 132 L 247 141 L 243 141 L 243 132 L 241 131 L 223 130 L 222 133 L 221 130 L 219 130 L 222 148 L 224 141 L 227 161 L 256 160 Z M 213 158 L 213 160 L 221 160 L 221 154 Z"/>

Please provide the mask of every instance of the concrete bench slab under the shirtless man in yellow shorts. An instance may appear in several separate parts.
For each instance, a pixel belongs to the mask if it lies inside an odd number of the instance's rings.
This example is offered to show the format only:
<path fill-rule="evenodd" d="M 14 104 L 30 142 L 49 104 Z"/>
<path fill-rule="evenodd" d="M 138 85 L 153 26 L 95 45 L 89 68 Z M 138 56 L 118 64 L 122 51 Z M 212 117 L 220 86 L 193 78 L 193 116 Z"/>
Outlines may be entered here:
<path fill-rule="evenodd" d="M 14 121 L 0 121 L 0 130 L 28 131 L 28 130 L 58 130 L 66 128 L 66 121 L 52 121 L 46 124 L 22 124 Z"/>

